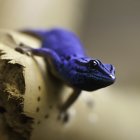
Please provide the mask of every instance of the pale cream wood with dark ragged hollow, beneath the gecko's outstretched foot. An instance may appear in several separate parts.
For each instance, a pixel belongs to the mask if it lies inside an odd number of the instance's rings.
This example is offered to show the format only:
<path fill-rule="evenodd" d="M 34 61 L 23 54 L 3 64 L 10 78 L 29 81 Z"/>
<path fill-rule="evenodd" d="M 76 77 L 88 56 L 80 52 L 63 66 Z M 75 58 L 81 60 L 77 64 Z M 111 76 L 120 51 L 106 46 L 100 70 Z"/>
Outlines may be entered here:
<path fill-rule="evenodd" d="M 57 101 L 52 102 L 52 92 L 56 89 L 52 90 L 51 83 L 46 83 L 44 60 L 16 52 L 14 48 L 20 43 L 39 47 L 39 40 L 27 35 L 0 32 L 0 122 L 8 140 L 29 140 L 42 115 L 49 117 L 47 108 L 57 109 Z M 52 95 L 48 96 L 48 91 Z"/>

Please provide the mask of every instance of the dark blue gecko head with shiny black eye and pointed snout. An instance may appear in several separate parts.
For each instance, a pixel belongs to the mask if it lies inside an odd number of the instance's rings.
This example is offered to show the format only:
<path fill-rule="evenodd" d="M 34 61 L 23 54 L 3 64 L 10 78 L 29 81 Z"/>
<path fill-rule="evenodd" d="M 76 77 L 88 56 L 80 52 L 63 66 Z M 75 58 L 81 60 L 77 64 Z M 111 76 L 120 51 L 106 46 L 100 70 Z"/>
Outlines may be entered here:
<path fill-rule="evenodd" d="M 97 59 L 80 58 L 73 60 L 73 85 L 87 91 L 107 87 L 115 82 L 115 68 Z"/>

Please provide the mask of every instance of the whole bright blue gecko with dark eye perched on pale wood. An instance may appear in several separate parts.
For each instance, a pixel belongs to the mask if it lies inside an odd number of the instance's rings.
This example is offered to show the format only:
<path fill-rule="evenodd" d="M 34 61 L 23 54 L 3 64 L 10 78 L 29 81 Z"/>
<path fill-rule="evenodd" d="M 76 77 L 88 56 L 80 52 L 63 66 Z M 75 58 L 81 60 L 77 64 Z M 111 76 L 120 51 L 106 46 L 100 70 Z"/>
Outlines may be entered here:
<path fill-rule="evenodd" d="M 73 32 L 59 28 L 22 32 L 39 37 L 42 47 L 18 47 L 16 50 L 45 58 L 52 75 L 73 88 L 72 95 L 60 107 L 61 112 L 74 103 L 82 90 L 94 91 L 115 82 L 114 66 L 89 57 Z"/>

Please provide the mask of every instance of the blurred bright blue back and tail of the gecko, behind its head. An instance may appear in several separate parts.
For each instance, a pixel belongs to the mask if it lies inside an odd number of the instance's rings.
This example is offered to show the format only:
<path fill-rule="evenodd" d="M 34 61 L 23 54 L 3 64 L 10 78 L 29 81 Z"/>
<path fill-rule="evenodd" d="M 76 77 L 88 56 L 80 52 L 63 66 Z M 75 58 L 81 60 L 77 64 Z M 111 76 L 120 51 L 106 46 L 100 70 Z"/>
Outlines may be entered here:
<path fill-rule="evenodd" d="M 55 51 L 60 57 L 85 57 L 85 50 L 79 38 L 68 30 L 23 30 L 23 33 L 38 37 L 42 47 Z"/>

